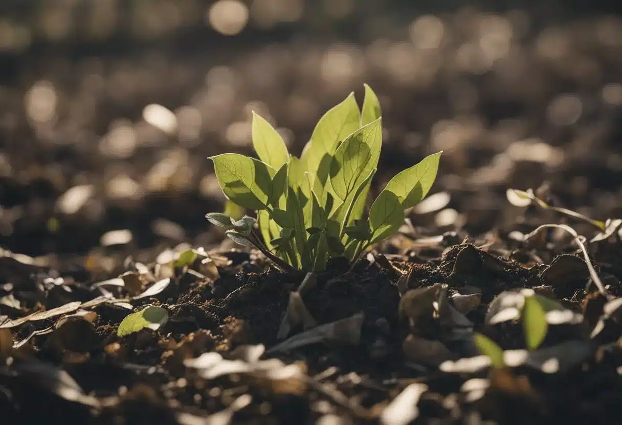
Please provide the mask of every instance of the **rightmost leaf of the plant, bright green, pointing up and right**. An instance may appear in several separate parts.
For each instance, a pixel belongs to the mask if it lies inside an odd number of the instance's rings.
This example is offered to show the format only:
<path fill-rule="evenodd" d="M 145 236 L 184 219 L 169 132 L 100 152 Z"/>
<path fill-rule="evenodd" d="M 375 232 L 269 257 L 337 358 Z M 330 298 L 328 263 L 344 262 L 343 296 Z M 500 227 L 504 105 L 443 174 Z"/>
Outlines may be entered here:
<path fill-rule="evenodd" d="M 439 170 L 440 155 L 443 152 L 433 153 L 425 157 L 417 165 L 397 173 L 384 188 L 385 191 L 396 194 L 402 203 L 403 209 L 412 208 L 428 194 Z"/>

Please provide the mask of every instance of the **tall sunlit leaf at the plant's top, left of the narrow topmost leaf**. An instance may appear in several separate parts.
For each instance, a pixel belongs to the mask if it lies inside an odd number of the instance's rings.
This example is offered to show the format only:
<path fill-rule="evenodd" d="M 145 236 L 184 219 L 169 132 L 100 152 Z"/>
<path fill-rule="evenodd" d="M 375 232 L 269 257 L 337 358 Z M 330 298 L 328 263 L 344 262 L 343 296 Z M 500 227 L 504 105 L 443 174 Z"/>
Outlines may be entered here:
<path fill-rule="evenodd" d="M 330 158 L 327 157 L 335 152 L 338 142 L 360 127 L 360 122 L 361 113 L 358 104 L 354 93 L 350 93 L 343 102 L 329 109 L 317 122 L 311 139 L 305 145 L 300 157 L 304 169 L 314 173 L 322 170 L 318 173 L 318 177 L 325 183 L 330 167 Z M 325 165 L 320 167 L 322 163 Z"/>

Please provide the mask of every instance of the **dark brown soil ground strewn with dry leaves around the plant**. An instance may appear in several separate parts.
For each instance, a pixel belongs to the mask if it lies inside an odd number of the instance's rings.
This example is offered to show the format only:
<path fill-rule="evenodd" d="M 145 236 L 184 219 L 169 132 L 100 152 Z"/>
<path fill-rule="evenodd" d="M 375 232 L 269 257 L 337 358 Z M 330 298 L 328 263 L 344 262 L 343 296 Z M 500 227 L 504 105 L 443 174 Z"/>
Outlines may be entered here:
<path fill-rule="evenodd" d="M 305 14 L 299 27 L 249 29 L 241 38 L 188 22 L 151 40 L 125 27 L 99 41 L 82 40 L 78 30 L 63 40 L 33 32 L 29 46 L 3 51 L 0 421 L 226 424 L 216 414 L 249 395 L 231 423 L 381 423 L 405 388 L 425 385 L 406 403 L 416 403 L 416 423 L 622 423 L 622 318 L 614 311 L 590 337 L 607 300 L 575 242 L 557 231 L 517 236 L 569 224 L 587 239 L 608 294 L 620 297 L 619 233 L 589 242 L 598 233 L 592 225 L 506 199 L 508 188 L 533 188 L 549 204 L 593 219 L 621 216 L 622 20 L 544 9 L 443 12 L 442 43 L 427 49 L 409 34 L 430 34 L 437 21 L 413 29 L 418 15 L 392 4 L 333 29 Z M 19 21 L 22 12 L 11 16 Z M 497 38 L 486 41 L 480 31 Z M 488 63 L 480 42 L 503 52 Z M 329 263 L 302 293 L 317 325 L 362 313 L 360 337 L 355 329 L 280 350 L 290 293 L 305 274 L 279 272 L 258 252 L 223 242 L 204 218 L 223 208 L 206 157 L 251 152 L 244 136 L 251 109 L 289 129 L 300 153 L 322 112 L 350 90 L 361 98 L 363 82 L 379 94 L 387 130 L 372 192 L 443 149 L 430 194 L 440 197 L 414 209 L 413 226 L 367 257 Z M 50 87 L 53 118 L 37 119 L 28 93 L 50 96 Z M 177 131 L 142 118 L 152 103 L 177 114 Z M 115 137 L 132 140 L 130 148 Z M 63 194 L 77 186 L 89 193 L 72 209 Z M 118 230 L 129 239 L 103 244 Z M 167 250 L 199 247 L 217 275 L 203 257 L 182 268 L 162 260 Z M 96 285 L 126 272 L 123 286 Z M 168 277 L 159 293 L 131 298 Z M 457 336 L 455 323 L 421 313 L 432 301 L 417 297 L 437 284 L 451 296 L 481 293 L 465 317 L 504 350 L 525 342 L 519 322 L 486 323 L 499 294 L 531 288 L 556 299 L 583 319 L 550 325 L 542 349 L 577 342 L 587 354 L 572 362 L 578 349 L 558 350 L 555 360 L 572 367 L 557 373 L 525 364 L 441 370 L 442 360 L 479 351 Z M 88 304 L 103 295 L 109 299 Z M 151 305 L 167 310 L 164 326 L 117 335 L 128 314 Z M 63 306 L 49 318 L 6 324 Z M 289 336 L 307 330 L 297 324 Z M 259 344 L 268 351 L 262 360 L 281 359 L 303 377 L 205 378 L 187 365 L 208 352 L 241 361 Z M 479 396 L 477 385 L 484 385 Z M 409 423 L 402 414 L 386 424 Z"/>

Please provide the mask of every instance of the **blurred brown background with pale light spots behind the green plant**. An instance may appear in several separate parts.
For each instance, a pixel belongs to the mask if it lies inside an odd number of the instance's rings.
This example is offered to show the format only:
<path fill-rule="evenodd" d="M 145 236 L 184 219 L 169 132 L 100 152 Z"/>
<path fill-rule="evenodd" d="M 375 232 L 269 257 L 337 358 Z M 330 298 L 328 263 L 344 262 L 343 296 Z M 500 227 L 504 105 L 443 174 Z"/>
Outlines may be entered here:
<path fill-rule="evenodd" d="M 0 243 L 28 255 L 210 245 L 209 155 L 251 111 L 299 155 L 363 83 L 383 107 L 374 187 L 445 150 L 415 226 L 498 231 L 507 188 L 622 208 L 618 1 L 4 0 Z M 113 231 L 113 233 L 110 233 Z"/>

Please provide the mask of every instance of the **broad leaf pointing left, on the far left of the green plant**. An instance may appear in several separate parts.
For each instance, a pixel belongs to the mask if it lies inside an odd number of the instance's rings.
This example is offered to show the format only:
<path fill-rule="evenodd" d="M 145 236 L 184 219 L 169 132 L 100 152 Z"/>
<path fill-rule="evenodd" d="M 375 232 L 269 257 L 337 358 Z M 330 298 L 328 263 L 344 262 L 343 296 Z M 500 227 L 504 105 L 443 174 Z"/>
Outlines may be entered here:
<path fill-rule="evenodd" d="M 271 193 L 272 167 L 238 153 L 223 153 L 210 157 L 218 184 L 228 199 L 243 208 L 266 209 Z"/>

